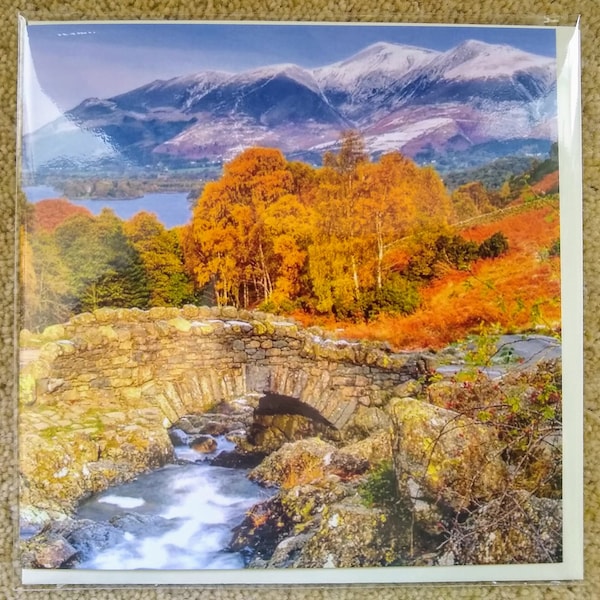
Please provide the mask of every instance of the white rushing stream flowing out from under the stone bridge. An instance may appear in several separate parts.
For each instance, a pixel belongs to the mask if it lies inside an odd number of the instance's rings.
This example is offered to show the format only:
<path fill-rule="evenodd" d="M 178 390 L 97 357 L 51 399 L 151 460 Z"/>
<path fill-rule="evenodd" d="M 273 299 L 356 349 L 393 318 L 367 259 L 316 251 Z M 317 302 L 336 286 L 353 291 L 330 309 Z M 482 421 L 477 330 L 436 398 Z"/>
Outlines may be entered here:
<path fill-rule="evenodd" d="M 216 454 L 232 450 L 223 436 L 208 455 L 175 446 L 177 464 L 114 486 L 82 502 L 78 519 L 116 524 L 116 545 L 100 549 L 79 569 L 235 569 L 240 553 L 227 551 L 231 530 L 269 492 L 250 482 L 246 469 L 212 466 Z"/>

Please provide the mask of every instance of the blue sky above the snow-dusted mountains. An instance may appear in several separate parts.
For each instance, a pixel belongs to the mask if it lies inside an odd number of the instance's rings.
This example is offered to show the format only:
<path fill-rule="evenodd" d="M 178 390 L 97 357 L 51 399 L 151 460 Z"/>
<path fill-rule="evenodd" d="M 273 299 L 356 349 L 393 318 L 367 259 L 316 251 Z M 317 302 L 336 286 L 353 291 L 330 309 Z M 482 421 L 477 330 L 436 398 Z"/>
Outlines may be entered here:
<path fill-rule="evenodd" d="M 82 22 L 29 24 L 27 38 L 24 75 L 37 81 L 26 81 L 24 89 L 39 96 L 41 88 L 45 96 L 31 127 L 85 98 L 110 97 L 154 79 L 282 62 L 317 67 L 378 41 L 444 51 L 477 39 L 555 55 L 551 28 Z"/>

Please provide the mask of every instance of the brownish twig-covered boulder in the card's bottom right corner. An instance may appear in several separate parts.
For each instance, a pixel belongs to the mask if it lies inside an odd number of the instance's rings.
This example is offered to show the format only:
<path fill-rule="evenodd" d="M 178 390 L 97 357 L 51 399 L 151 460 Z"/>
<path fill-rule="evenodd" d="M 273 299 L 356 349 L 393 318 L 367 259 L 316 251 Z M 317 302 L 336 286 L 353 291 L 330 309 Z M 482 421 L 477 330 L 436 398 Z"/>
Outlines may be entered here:
<path fill-rule="evenodd" d="M 562 560 L 562 503 L 523 490 L 476 510 L 450 534 L 440 564 L 525 564 Z"/>

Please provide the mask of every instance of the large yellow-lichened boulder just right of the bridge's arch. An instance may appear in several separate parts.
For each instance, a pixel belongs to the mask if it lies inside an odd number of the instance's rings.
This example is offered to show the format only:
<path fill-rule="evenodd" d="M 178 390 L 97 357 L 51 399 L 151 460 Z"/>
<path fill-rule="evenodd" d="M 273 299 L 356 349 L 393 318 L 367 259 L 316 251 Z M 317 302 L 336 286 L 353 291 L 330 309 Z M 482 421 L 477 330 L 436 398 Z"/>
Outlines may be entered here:
<path fill-rule="evenodd" d="M 394 400 L 390 413 L 398 489 L 413 505 L 436 501 L 459 512 L 506 487 L 503 446 L 492 427 L 413 398 Z"/>

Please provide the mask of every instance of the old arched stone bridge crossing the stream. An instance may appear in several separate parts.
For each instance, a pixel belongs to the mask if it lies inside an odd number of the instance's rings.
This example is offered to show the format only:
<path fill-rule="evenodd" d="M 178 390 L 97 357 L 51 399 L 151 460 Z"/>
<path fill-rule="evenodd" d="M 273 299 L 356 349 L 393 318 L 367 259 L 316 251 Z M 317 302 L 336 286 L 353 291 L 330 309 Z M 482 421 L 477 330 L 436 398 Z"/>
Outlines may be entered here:
<path fill-rule="evenodd" d="M 24 405 L 158 408 L 167 426 L 254 393 L 295 398 L 342 429 L 359 405 L 401 395 L 428 360 L 232 307 L 100 309 L 24 332 L 21 347 Z"/>

